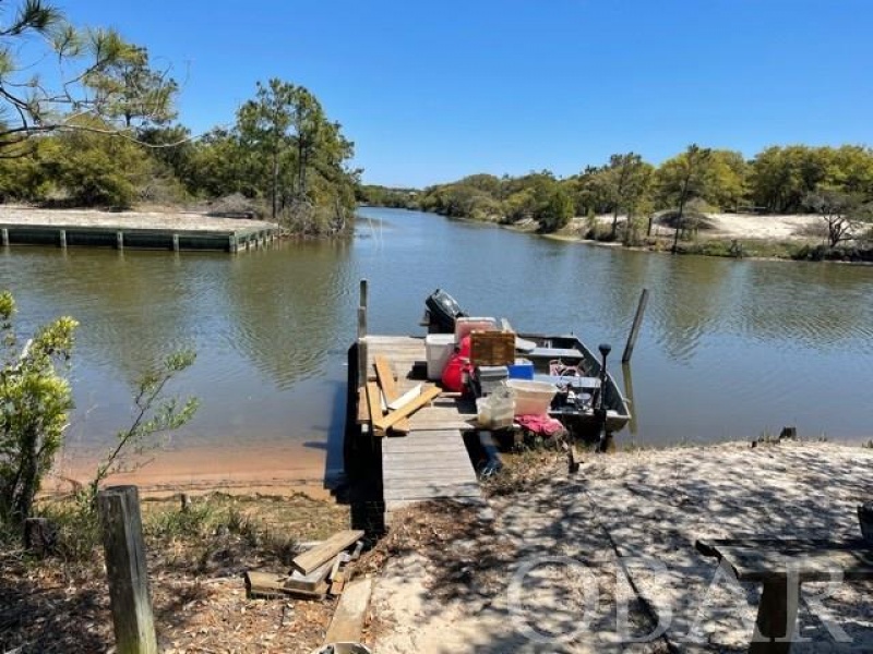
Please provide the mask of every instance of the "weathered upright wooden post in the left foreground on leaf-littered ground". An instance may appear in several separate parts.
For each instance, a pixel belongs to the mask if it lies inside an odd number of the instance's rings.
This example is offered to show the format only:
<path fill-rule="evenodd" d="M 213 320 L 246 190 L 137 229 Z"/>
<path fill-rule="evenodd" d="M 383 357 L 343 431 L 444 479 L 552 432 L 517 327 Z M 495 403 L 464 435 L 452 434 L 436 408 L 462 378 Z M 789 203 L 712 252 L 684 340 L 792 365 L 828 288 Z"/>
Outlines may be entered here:
<path fill-rule="evenodd" d="M 136 486 L 110 486 L 97 495 L 116 651 L 157 654 L 148 570 Z"/>

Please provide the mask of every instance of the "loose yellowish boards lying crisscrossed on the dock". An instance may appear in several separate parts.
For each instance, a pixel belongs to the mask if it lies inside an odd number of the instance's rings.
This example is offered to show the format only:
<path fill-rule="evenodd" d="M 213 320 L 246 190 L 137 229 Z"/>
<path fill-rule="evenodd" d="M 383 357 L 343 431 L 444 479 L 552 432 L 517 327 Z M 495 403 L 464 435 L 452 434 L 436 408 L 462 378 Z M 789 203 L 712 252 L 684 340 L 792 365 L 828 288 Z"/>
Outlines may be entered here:
<path fill-rule="evenodd" d="M 387 359 L 376 355 L 373 367 L 375 382 L 368 382 L 358 395 L 358 420 L 369 422 L 374 436 L 385 436 L 388 432 L 392 435 L 408 434 L 408 417 L 442 391 L 426 384 L 402 395 Z"/>

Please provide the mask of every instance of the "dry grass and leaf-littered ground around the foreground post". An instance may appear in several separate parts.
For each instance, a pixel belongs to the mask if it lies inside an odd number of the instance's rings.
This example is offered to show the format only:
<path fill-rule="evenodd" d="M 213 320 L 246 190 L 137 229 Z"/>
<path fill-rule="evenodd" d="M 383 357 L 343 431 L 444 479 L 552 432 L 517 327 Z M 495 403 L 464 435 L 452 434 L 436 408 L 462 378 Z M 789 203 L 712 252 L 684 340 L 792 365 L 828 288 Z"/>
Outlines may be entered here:
<path fill-rule="evenodd" d="M 56 518 L 69 507 L 43 506 Z M 248 600 L 247 569 L 282 571 L 300 543 L 348 526 L 345 507 L 292 497 L 144 500 L 143 526 L 158 643 L 165 654 L 310 652 L 321 644 L 334 600 Z M 101 547 L 63 533 L 62 556 L 0 553 L 0 652 L 106 652 L 113 637 Z"/>

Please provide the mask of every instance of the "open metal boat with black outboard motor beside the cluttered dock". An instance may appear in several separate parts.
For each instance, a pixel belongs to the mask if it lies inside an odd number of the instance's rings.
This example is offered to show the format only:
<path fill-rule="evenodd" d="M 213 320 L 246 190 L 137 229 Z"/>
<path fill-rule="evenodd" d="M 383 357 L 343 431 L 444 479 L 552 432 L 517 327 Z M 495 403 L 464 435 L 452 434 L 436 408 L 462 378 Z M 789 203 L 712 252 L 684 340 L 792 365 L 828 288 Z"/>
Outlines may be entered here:
<path fill-rule="evenodd" d="M 426 301 L 426 322 L 431 332 L 453 334 L 455 319 L 466 314 L 445 291 L 436 289 Z M 602 438 L 622 429 L 631 420 L 627 400 L 606 366 L 609 346 L 600 358 L 574 335 L 516 335 L 518 356 L 534 365 L 534 380 L 552 384 L 558 392 L 549 414 L 579 438 Z"/>

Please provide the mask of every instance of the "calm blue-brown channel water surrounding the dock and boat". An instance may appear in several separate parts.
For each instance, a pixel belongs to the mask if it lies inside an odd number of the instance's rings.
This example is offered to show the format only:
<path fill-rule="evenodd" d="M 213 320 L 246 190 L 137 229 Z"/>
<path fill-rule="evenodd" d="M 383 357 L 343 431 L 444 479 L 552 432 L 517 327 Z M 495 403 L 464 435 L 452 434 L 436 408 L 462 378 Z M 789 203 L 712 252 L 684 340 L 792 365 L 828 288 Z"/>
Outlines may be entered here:
<path fill-rule="evenodd" d="M 440 287 L 473 315 L 612 342 L 635 414 L 625 441 L 751 437 L 784 425 L 837 440 L 873 436 L 871 267 L 625 252 L 373 208 L 361 210 L 351 242 L 236 257 L 0 250 L 0 287 L 14 292 L 26 328 L 60 314 L 82 324 L 69 441 L 83 455 L 128 423 L 144 365 L 188 346 L 198 362 L 176 390 L 202 408 L 171 448 L 299 443 L 328 449 L 337 465 L 362 277 L 373 332 L 421 334 L 423 300 Z M 631 378 L 618 359 L 644 287 Z"/>

